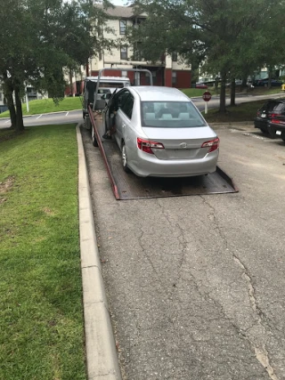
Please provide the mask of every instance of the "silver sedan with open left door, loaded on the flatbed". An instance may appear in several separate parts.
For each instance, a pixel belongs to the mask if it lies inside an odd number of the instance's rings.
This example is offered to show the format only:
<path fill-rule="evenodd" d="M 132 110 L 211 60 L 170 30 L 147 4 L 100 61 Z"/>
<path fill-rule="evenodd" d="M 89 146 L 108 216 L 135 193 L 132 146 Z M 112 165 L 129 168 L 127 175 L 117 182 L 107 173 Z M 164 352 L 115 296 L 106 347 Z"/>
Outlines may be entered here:
<path fill-rule="evenodd" d="M 124 88 L 110 99 L 103 123 L 116 131 L 125 171 L 142 177 L 216 171 L 219 139 L 190 99 L 175 88 Z"/>

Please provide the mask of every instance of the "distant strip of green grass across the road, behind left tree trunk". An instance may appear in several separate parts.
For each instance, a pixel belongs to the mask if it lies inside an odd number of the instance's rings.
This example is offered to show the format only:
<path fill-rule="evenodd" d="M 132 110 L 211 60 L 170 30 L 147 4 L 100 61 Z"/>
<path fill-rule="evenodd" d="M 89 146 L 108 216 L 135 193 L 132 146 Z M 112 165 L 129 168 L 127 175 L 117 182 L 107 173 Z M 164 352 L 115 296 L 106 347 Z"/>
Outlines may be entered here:
<path fill-rule="evenodd" d="M 55 104 L 53 99 L 42 99 L 40 101 L 28 101 L 29 111 L 27 112 L 26 103 L 22 104 L 23 115 L 37 115 L 48 112 L 70 111 L 73 109 L 82 109 L 80 97 L 64 98 L 59 104 Z M 5 111 L 0 117 L 9 117 L 10 112 Z"/>

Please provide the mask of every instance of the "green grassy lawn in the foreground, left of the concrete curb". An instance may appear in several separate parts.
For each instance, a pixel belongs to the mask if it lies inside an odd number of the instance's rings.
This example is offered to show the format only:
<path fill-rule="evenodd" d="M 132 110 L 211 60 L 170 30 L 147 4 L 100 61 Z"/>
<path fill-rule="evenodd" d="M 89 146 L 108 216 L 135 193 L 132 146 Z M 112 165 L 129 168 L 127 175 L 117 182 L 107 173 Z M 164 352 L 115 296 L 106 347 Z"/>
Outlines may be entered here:
<path fill-rule="evenodd" d="M 75 125 L 0 130 L 0 378 L 85 379 Z"/>

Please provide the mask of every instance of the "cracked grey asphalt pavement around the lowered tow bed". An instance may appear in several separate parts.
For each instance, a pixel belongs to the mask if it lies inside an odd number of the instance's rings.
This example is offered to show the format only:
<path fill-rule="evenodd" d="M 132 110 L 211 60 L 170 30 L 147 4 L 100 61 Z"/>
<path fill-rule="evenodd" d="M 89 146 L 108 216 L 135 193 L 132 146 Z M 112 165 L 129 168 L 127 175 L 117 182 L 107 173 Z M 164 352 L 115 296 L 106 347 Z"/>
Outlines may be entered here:
<path fill-rule="evenodd" d="M 216 132 L 239 193 L 127 201 L 83 133 L 126 380 L 285 379 L 285 144 Z"/>

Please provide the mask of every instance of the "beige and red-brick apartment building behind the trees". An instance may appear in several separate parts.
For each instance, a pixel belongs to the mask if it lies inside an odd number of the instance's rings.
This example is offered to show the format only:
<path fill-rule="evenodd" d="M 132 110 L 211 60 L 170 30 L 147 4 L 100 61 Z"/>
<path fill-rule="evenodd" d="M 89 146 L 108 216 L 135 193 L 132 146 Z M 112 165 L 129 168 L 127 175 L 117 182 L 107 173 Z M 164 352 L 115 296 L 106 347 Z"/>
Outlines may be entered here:
<path fill-rule="evenodd" d="M 95 6 L 101 6 L 95 4 Z M 117 42 L 126 34 L 126 28 L 136 28 L 147 14 L 135 14 L 132 6 L 115 6 L 108 8 L 105 11 L 112 16 L 107 26 L 115 33 L 108 33 L 102 28 L 102 34 L 106 38 L 112 38 Z M 184 64 L 177 54 L 172 56 L 164 54 L 161 61 L 155 64 L 150 61 L 144 61 L 140 57 L 140 53 L 135 46 L 130 46 L 126 43 L 121 44 L 118 49 L 113 49 L 111 52 L 102 50 L 98 57 L 90 60 L 89 75 L 96 76 L 99 69 L 115 67 L 119 69 L 149 69 L 152 74 L 154 85 L 166 85 L 176 88 L 191 87 L 191 67 Z M 130 78 L 132 85 L 148 85 L 150 78 L 145 73 L 134 73 L 127 71 L 110 71 L 105 70 L 105 76 L 127 76 Z"/>

